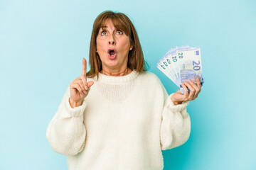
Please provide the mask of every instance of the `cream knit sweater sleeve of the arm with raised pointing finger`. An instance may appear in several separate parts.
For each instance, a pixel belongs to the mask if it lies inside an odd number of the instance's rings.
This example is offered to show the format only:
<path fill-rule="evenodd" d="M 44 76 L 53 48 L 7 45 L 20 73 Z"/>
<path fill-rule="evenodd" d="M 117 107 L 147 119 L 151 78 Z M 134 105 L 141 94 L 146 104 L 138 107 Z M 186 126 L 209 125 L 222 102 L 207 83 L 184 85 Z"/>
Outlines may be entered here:
<path fill-rule="evenodd" d="M 71 108 L 69 103 L 70 89 L 68 87 L 58 107 L 57 113 L 50 121 L 46 138 L 55 152 L 65 155 L 75 155 L 85 147 L 85 125 L 83 113 L 86 103 Z"/>

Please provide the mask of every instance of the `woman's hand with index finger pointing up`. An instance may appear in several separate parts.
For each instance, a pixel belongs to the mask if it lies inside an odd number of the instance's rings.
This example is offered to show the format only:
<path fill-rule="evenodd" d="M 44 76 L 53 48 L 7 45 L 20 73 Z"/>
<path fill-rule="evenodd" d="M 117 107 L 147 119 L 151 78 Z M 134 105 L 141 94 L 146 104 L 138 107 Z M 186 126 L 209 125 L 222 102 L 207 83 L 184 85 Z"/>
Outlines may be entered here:
<path fill-rule="evenodd" d="M 72 108 L 82 105 L 82 101 L 88 95 L 90 87 L 94 84 L 93 81 L 87 82 L 86 79 L 86 60 L 82 58 L 82 75 L 74 79 L 70 83 L 70 106 Z"/>

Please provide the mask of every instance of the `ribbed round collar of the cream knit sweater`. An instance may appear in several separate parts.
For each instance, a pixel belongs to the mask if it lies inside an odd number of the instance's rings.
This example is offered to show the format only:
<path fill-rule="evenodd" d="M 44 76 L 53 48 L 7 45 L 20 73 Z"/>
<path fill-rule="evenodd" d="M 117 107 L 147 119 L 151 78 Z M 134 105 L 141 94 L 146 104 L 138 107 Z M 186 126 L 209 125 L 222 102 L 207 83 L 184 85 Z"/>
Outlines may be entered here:
<path fill-rule="evenodd" d="M 95 81 L 106 83 L 106 84 L 118 84 L 118 83 L 125 83 L 125 82 L 132 81 L 133 79 L 136 79 L 138 75 L 139 73 L 136 72 L 135 70 L 133 70 L 131 73 L 122 77 L 107 76 L 99 72 L 99 79 L 97 80 L 97 76 L 94 77 L 94 79 Z"/>

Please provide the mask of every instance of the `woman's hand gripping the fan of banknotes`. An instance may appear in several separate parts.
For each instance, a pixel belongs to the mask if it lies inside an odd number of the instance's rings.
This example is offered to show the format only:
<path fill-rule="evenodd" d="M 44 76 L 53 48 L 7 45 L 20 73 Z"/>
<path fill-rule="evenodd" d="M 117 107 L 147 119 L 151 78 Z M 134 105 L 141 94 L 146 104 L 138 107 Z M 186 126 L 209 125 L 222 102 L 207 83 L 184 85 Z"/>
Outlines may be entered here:
<path fill-rule="evenodd" d="M 183 101 L 193 101 L 198 97 L 198 94 L 201 91 L 201 82 L 199 79 L 196 79 L 196 84 L 193 81 L 189 80 L 188 83 L 184 81 L 181 86 L 184 89 L 184 94 L 181 94 L 181 90 L 176 91 L 173 96 L 171 96 L 171 101 L 173 101 L 174 105 L 181 104 Z M 188 93 L 188 89 L 190 92 Z"/>

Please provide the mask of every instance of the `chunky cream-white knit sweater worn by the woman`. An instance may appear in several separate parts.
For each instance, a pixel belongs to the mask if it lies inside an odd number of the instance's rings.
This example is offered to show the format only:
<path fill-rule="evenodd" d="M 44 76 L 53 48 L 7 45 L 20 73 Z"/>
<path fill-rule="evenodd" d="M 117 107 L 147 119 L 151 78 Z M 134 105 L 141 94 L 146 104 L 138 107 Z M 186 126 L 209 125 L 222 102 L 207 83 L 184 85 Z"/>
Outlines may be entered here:
<path fill-rule="evenodd" d="M 150 72 L 90 80 L 82 106 L 71 108 L 65 92 L 46 133 L 53 150 L 68 156 L 70 170 L 163 169 L 161 149 L 188 140 L 188 102 L 174 106 Z"/>

